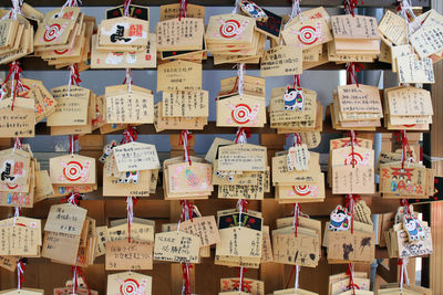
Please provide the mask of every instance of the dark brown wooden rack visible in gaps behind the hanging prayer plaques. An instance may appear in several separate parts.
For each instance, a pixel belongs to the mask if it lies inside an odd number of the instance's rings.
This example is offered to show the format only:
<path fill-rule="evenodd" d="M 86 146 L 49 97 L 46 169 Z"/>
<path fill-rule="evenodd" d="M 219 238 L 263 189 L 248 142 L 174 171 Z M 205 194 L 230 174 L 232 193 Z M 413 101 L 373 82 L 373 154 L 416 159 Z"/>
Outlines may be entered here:
<path fill-rule="evenodd" d="M 64 0 L 25 0 L 33 7 L 61 7 Z M 430 8 L 431 0 L 412 0 L 413 7 L 421 7 L 423 9 Z M 83 7 L 112 7 L 122 4 L 123 0 L 83 0 Z M 166 3 L 176 3 L 176 0 L 150 0 L 150 1 L 133 1 L 133 4 L 143 6 L 161 6 Z M 206 7 L 233 7 L 235 0 L 192 0 L 193 4 L 202 4 Z M 264 7 L 290 7 L 289 0 L 255 0 L 256 3 Z M 302 7 L 342 7 L 343 0 L 301 0 Z M 385 8 L 394 9 L 396 0 L 365 0 L 362 4 L 359 3 L 359 8 Z M 10 0 L 0 0 L 0 7 L 10 7 Z M 48 66 L 47 63 L 37 57 L 24 57 L 21 60 L 23 71 L 54 71 L 53 66 Z M 0 66 L 0 70 L 6 71 L 8 65 Z M 204 70 L 231 70 L 231 65 L 214 65 L 213 59 L 209 57 L 203 62 Z M 258 65 L 248 65 L 248 69 L 259 69 Z M 337 65 L 334 63 L 328 63 L 317 66 L 311 70 L 326 70 L 337 71 L 344 70 L 344 65 Z M 390 70 L 390 65 L 385 63 L 364 63 L 363 70 Z M 91 71 L 91 70 L 87 70 Z M 110 70 L 104 70 L 110 71 Z M 115 70 L 114 70 L 115 71 Z M 119 70 L 116 70 L 119 71 Z M 155 70 L 152 70 L 155 71 Z M 193 131 L 194 134 L 235 134 L 237 128 L 223 128 L 216 127 L 214 122 L 209 124 L 203 130 Z M 153 125 L 141 125 L 137 126 L 138 134 L 143 135 L 169 135 L 171 144 L 173 146 L 174 156 L 179 154 L 182 148 L 178 146 L 178 133 L 179 130 L 166 130 L 156 133 Z M 259 134 L 260 144 L 267 146 L 269 155 L 277 150 L 281 150 L 285 145 L 285 135 L 277 135 L 275 129 L 271 129 L 269 125 L 264 128 L 251 128 L 253 134 Z M 330 118 L 327 116 L 323 122 L 323 130 L 326 134 L 340 134 L 332 128 Z M 382 133 L 382 149 L 392 149 L 392 131 L 382 128 L 377 128 L 377 133 Z M 114 134 L 122 134 L 116 131 Z M 365 138 L 373 138 L 373 133 L 359 133 L 360 136 Z M 50 129 L 44 123 L 40 123 L 35 127 L 37 136 L 50 135 Z M 420 134 L 411 134 L 409 138 L 412 145 L 419 145 Z M 105 143 L 105 135 L 94 133 L 93 135 L 85 135 L 80 137 L 80 146 L 82 155 L 90 157 L 100 157 L 103 145 Z M 10 144 L 10 141 L 9 141 Z M 3 145 L 0 143 L 0 146 Z M 97 165 L 99 179 L 101 179 L 102 166 Z M 100 183 L 99 183 L 100 185 Z M 398 200 L 387 200 L 381 198 L 379 194 L 362 196 L 363 200 L 370 206 L 372 213 L 383 213 L 394 211 L 399 202 Z M 338 203 L 343 203 L 344 198 L 342 196 L 333 196 L 331 191 L 327 190 L 327 198 L 322 203 L 306 203 L 301 204 L 303 213 L 315 215 L 318 219 L 327 220 L 328 214 Z M 23 214 L 27 217 L 34 217 L 45 219 L 51 204 L 58 203 L 60 200 L 45 200 L 39 202 L 33 209 L 23 210 Z M 195 204 L 198 207 L 203 215 L 214 214 L 217 210 L 234 208 L 237 200 L 223 200 L 217 199 L 215 194 L 208 200 L 196 201 Z M 101 197 L 101 190 L 97 192 L 87 194 L 86 200 L 81 202 L 81 206 L 87 209 L 87 215 L 96 219 L 97 225 L 109 224 L 110 220 L 126 217 L 126 206 L 124 196 L 120 198 L 103 198 Z M 278 204 L 274 200 L 274 192 L 267 193 L 262 201 L 250 201 L 249 209 L 259 210 L 262 212 L 265 224 L 269 224 L 270 229 L 275 229 L 275 220 L 285 215 L 289 215 L 292 211 L 291 204 Z M 10 210 L 4 208 L 0 209 L 2 217 L 10 213 Z M 134 215 L 140 218 L 148 218 L 156 221 L 156 232 L 161 231 L 161 224 L 167 222 L 176 222 L 181 214 L 181 206 L 178 201 L 165 201 L 163 200 L 163 189 L 157 188 L 155 194 L 147 198 L 141 198 L 137 204 L 134 207 Z M 225 266 L 217 266 L 213 264 L 214 253 L 212 259 L 204 259 L 200 264 L 195 264 L 192 271 L 192 287 L 196 294 L 217 294 L 220 277 L 237 276 L 237 270 Z M 387 257 L 387 252 L 378 249 L 377 257 Z M 103 256 L 95 261 L 96 264 L 84 270 L 85 277 L 87 278 L 89 285 L 92 289 L 97 289 L 100 294 L 105 294 L 106 275 L 107 272 L 104 270 Z M 414 260 L 410 261 L 409 268 L 410 274 L 413 272 Z M 398 267 L 395 261 L 389 262 L 390 270 L 379 267 L 378 273 L 380 277 L 388 282 L 396 281 Z M 323 251 L 322 259 L 320 260 L 317 268 L 302 267 L 300 272 L 300 287 L 318 292 L 319 294 L 327 294 L 328 276 L 333 273 L 342 272 L 346 270 L 346 265 L 329 265 L 326 260 L 326 253 Z M 275 289 L 285 288 L 288 281 L 292 266 L 281 265 L 277 263 L 265 263 L 261 264 L 259 270 L 248 270 L 245 277 L 260 278 L 265 281 L 266 293 L 271 293 Z M 61 264 L 50 263 L 44 259 L 30 259 L 25 271 L 24 286 L 28 287 L 40 287 L 44 288 L 47 294 L 52 293 L 53 287 L 61 286 L 66 280 L 72 277 L 70 272 L 71 267 Z M 369 265 L 356 265 L 356 271 L 370 271 Z M 153 294 L 154 295 L 166 295 L 166 294 L 181 294 L 182 288 L 182 270 L 179 264 L 169 263 L 154 263 L 154 271 L 143 271 L 142 273 L 153 276 Z M 414 282 L 414 275 L 410 275 L 411 281 Z M 293 281 L 292 281 L 293 282 Z M 292 284 L 292 283 L 291 283 Z M 0 271 L 0 287 L 1 289 L 13 288 L 17 286 L 17 275 L 7 271 Z"/>

